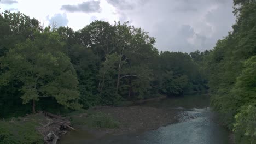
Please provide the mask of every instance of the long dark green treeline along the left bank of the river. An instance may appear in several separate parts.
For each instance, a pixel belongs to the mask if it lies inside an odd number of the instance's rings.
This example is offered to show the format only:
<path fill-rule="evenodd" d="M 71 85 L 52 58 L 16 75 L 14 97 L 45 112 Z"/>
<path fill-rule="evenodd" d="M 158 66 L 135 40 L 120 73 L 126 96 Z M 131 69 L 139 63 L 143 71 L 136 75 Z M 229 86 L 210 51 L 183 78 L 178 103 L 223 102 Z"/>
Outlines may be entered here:
<path fill-rule="evenodd" d="M 159 53 L 155 38 L 127 22 L 94 21 L 73 31 L 44 28 L 36 19 L 5 11 L 0 32 L 0 117 L 119 105 L 206 88 L 190 55 Z"/>

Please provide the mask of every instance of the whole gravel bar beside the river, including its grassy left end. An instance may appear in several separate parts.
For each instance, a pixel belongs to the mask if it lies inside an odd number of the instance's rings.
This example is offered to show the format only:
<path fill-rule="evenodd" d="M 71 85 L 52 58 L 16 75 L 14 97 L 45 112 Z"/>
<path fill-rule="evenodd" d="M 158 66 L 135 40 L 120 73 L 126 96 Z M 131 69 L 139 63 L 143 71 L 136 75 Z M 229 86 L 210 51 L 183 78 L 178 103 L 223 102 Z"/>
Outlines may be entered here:
<path fill-rule="evenodd" d="M 91 137 L 98 138 L 106 135 L 123 135 L 128 133 L 142 133 L 143 131 L 157 129 L 161 126 L 175 123 L 177 119 L 177 109 L 164 109 L 148 106 L 129 106 L 129 107 L 101 107 L 96 110 L 89 110 L 89 113 L 102 113 L 104 117 L 113 118 L 118 122 L 118 127 L 114 128 L 92 128 L 86 124 L 77 124 L 73 127 L 86 131 Z M 94 114 L 90 114 L 94 115 Z M 73 121 L 88 121 L 88 113 L 73 115 Z M 103 120 L 104 121 L 104 120 Z M 108 120 L 106 120 L 108 121 Z M 110 124 L 111 125 L 111 124 Z"/>

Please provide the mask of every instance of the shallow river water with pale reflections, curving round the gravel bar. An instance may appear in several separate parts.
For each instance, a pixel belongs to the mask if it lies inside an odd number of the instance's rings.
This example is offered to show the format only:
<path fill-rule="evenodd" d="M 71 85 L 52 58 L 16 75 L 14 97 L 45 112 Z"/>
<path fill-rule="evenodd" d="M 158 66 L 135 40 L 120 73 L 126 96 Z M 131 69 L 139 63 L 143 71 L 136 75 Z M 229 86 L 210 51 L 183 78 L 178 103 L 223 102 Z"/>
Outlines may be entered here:
<path fill-rule="evenodd" d="M 209 106 L 207 95 L 188 95 L 182 98 L 172 98 L 145 104 L 153 107 L 165 107 L 179 111 L 179 122 L 160 127 L 145 133 L 106 136 L 101 139 L 88 139 L 87 134 L 69 137 L 63 143 L 91 144 L 225 144 L 228 143 L 228 133 L 217 123 L 217 115 Z"/>

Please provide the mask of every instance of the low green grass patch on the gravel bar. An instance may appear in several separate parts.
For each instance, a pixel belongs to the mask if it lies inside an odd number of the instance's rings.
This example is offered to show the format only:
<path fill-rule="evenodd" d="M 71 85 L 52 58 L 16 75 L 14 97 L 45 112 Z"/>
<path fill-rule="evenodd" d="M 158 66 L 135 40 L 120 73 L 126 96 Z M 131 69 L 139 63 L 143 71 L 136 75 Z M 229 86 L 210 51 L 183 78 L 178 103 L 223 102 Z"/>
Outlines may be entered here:
<path fill-rule="evenodd" d="M 86 111 L 84 114 L 74 112 L 71 114 L 71 123 L 85 125 L 89 128 L 118 128 L 120 123 L 109 115 L 101 112 Z"/>

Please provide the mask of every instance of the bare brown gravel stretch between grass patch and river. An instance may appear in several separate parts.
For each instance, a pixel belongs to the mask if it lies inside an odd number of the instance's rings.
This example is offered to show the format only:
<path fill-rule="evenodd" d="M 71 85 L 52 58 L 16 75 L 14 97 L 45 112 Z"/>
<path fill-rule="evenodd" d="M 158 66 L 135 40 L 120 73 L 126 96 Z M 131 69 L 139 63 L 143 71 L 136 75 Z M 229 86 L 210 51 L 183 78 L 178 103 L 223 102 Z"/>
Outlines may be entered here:
<path fill-rule="evenodd" d="M 110 107 L 96 110 L 117 119 L 120 126 L 113 129 L 114 135 L 142 132 L 177 122 L 177 111 L 146 106 Z"/>

